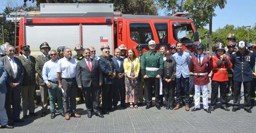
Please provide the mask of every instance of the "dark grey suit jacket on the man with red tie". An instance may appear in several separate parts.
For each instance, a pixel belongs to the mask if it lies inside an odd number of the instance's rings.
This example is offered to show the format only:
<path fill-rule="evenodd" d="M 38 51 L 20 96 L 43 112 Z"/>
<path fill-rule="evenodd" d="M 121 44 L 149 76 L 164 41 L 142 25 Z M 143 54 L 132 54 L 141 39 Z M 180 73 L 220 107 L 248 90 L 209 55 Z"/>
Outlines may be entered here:
<path fill-rule="evenodd" d="M 78 86 L 99 88 L 99 82 L 103 83 L 102 72 L 98 60 L 92 59 L 92 69 L 89 70 L 85 59 L 76 64 L 76 83 Z"/>

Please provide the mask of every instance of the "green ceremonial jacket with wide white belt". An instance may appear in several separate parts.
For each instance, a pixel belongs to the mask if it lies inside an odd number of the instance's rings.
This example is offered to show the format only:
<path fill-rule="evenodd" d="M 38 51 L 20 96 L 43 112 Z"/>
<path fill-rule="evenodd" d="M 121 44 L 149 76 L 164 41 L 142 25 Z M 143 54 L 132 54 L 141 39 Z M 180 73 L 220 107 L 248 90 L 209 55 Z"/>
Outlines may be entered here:
<path fill-rule="evenodd" d="M 156 75 L 163 75 L 164 60 L 161 52 L 147 51 L 143 53 L 141 59 L 142 76 L 156 77 Z"/>

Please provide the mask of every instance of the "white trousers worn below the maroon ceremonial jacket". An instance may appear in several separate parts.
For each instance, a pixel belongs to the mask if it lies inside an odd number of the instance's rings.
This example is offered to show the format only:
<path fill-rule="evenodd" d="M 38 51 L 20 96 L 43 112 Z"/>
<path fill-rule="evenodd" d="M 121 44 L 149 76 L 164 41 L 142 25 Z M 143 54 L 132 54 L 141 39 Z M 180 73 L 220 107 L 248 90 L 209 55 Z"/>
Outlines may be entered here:
<path fill-rule="evenodd" d="M 208 109 L 208 84 L 200 86 L 200 85 L 194 85 L 195 87 L 195 95 L 194 95 L 194 104 L 195 108 L 200 109 L 200 90 L 202 89 L 202 94 L 203 94 L 203 106 L 204 109 Z"/>

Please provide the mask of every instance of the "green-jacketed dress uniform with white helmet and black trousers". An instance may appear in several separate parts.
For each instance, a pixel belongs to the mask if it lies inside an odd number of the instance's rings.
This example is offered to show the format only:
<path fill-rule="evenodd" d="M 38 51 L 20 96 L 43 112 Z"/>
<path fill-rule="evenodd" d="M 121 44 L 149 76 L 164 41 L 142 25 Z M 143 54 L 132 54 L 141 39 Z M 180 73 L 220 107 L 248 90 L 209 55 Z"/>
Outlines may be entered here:
<path fill-rule="evenodd" d="M 153 41 L 153 40 L 151 40 Z M 155 42 L 149 42 L 149 45 L 155 45 Z M 152 106 L 152 91 L 153 86 L 155 89 L 155 102 L 156 107 L 160 109 L 160 81 L 156 78 L 157 75 L 162 75 L 164 69 L 164 61 L 161 52 L 147 51 L 142 55 L 141 59 L 141 71 L 142 75 L 147 75 L 149 78 L 146 79 L 148 88 L 148 96 L 146 98 L 147 107 Z"/>

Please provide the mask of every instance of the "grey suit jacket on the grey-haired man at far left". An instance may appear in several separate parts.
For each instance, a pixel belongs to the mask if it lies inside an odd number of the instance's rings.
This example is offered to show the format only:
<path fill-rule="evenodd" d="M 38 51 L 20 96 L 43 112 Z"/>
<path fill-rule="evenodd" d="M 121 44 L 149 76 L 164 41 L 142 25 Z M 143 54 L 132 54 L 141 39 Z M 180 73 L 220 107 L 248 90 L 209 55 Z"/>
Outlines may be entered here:
<path fill-rule="evenodd" d="M 17 63 L 17 71 L 18 71 L 15 79 L 12 77 L 14 72 L 12 71 L 12 67 L 11 67 L 10 61 L 8 60 L 8 57 L 7 56 L 1 57 L 0 61 L 4 64 L 4 68 L 8 73 L 7 80 L 6 80 L 7 87 L 10 86 L 11 83 L 17 83 L 17 82 L 20 83 L 21 85 L 23 80 L 23 75 L 24 75 L 24 69 L 21 61 L 18 58 L 14 57 L 14 61 Z"/>

